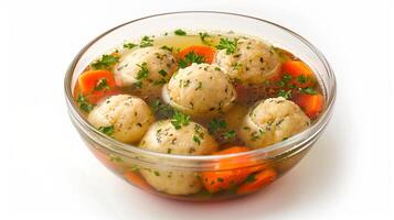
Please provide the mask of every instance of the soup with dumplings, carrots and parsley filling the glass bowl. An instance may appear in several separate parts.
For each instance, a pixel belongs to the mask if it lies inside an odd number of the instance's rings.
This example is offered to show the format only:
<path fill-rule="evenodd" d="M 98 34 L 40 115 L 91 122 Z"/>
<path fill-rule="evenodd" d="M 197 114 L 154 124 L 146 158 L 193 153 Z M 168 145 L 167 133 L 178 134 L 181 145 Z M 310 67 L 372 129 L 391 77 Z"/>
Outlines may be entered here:
<path fill-rule="evenodd" d="M 307 129 L 324 106 L 316 75 L 290 52 L 253 36 L 184 30 L 114 45 L 79 75 L 74 98 L 108 136 L 181 155 L 266 147 Z M 137 173 L 149 187 L 183 196 L 234 186 L 247 194 L 277 175 L 270 166 L 236 174 Z"/>

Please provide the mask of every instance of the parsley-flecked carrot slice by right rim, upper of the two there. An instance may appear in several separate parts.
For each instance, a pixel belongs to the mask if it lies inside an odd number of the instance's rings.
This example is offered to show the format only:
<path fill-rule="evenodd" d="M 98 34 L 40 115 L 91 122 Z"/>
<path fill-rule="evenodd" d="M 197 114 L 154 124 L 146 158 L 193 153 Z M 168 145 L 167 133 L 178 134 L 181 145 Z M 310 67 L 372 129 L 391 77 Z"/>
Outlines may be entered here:
<path fill-rule="evenodd" d="M 316 84 L 313 72 L 304 62 L 285 62 L 281 65 L 281 70 L 283 75 L 289 74 L 292 77 L 289 85 L 305 88 L 312 87 Z"/>

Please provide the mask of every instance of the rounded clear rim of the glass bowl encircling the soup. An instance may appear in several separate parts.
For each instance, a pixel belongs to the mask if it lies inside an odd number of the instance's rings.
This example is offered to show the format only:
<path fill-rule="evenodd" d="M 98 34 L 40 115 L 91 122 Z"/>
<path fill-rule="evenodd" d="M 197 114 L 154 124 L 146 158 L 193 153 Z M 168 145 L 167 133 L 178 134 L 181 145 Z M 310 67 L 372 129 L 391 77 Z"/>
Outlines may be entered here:
<path fill-rule="evenodd" d="M 95 129 L 93 125 L 90 125 L 87 122 L 87 120 L 84 119 L 84 117 L 81 114 L 81 112 L 77 110 L 76 106 L 74 105 L 73 92 L 71 89 L 73 73 L 75 70 L 76 64 L 78 63 L 81 57 L 85 54 L 85 52 L 88 51 L 90 48 L 90 46 L 93 46 L 102 37 L 106 36 L 107 34 L 111 33 L 113 31 L 118 30 L 118 29 L 120 29 L 125 25 L 128 25 L 130 23 L 135 23 L 135 22 L 138 22 L 141 20 L 147 20 L 147 19 L 151 19 L 151 18 L 158 18 L 158 16 L 166 16 L 166 15 L 173 15 L 173 14 L 191 14 L 191 13 L 207 13 L 207 14 L 241 16 L 241 18 L 246 18 L 246 19 L 264 22 L 264 23 L 270 24 L 275 28 L 281 29 L 283 31 L 295 36 L 297 40 L 299 40 L 301 43 L 304 43 L 306 46 L 308 46 L 315 53 L 315 55 L 318 56 L 320 62 L 323 64 L 324 70 L 329 75 L 329 84 L 324 85 L 324 86 L 329 86 L 330 87 L 329 89 L 331 89 L 330 96 L 328 96 L 327 99 L 324 100 L 326 109 L 319 116 L 318 121 L 316 121 L 311 127 L 304 130 L 302 132 L 297 133 L 296 135 L 292 135 L 285 141 L 278 142 L 278 143 L 269 145 L 267 147 L 251 150 L 251 151 L 242 152 L 242 153 L 225 154 L 225 155 L 178 155 L 178 154 L 166 154 L 166 153 L 152 152 L 152 151 L 140 148 L 132 144 L 126 144 L 126 143 L 119 142 L 115 139 L 111 139 L 111 138 L 103 134 L 97 129 Z M 299 34 L 297 34 L 296 32 L 294 32 L 287 28 L 284 28 L 279 24 L 276 24 L 274 22 L 270 22 L 270 21 L 267 21 L 264 19 L 245 15 L 245 14 L 241 14 L 241 13 L 223 12 L 223 11 L 173 11 L 173 12 L 151 14 L 151 15 L 147 15 L 147 16 L 142 16 L 139 19 L 135 19 L 135 20 L 125 22 L 123 24 L 119 24 L 113 29 L 105 31 L 104 33 L 102 33 L 98 36 L 96 36 L 95 38 L 93 38 L 88 44 L 86 44 L 77 53 L 77 55 L 73 58 L 72 63 L 70 64 L 70 66 L 66 70 L 65 78 L 64 78 L 64 90 L 65 90 L 66 103 L 68 107 L 68 113 L 70 113 L 72 120 L 76 120 L 78 122 L 79 128 L 81 128 L 81 125 L 84 125 L 88 130 L 88 132 L 93 132 L 93 134 L 96 135 L 96 138 L 100 138 L 102 140 L 105 140 L 106 143 L 109 143 L 109 144 L 100 143 L 99 144 L 100 146 L 103 146 L 109 151 L 119 153 L 120 155 L 126 155 L 126 156 L 129 153 L 138 153 L 139 155 L 142 155 L 142 156 L 150 156 L 150 157 L 156 157 L 156 158 L 160 157 L 162 160 L 195 161 L 199 163 L 204 163 L 204 162 L 211 162 L 211 161 L 216 161 L 216 160 L 231 160 L 231 158 L 241 157 L 241 156 L 252 156 L 254 158 L 256 158 L 258 156 L 265 157 L 267 155 L 267 153 L 273 152 L 275 150 L 284 148 L 289 145 L 295 144 L 288 151 L 291 151 L 291 150 L 302 146 L 305 144 L 305 142 L 317 136 L 323 130 L 323 128 L 327 125 L 327 123 L 329 122 L 329 119 L 332 114 L 332 108 L 333 108 L 333 103 L 336 100 L 336 96 L 337 96 L 337 82 L 336 82 L 334 73 L 333 73 L 330 64 L 326 59 L 326 57 L 322 55 L 322 53 L 316 46 L 313 46 L 311 43 L 309 43 L 309 41 L 307 41 Z M 84 132 L 87 134 L 86 130 L 84 130 Z M 97 142 L 97 139 L 94 139 L 94 141 Z M 116 146 L 116 147 L 113 147 L 113 146 Z M 283 152 L 280 154 L 283 154 Z M 274 155 L 273 155 L 273 157 L 274 157 Z"/>

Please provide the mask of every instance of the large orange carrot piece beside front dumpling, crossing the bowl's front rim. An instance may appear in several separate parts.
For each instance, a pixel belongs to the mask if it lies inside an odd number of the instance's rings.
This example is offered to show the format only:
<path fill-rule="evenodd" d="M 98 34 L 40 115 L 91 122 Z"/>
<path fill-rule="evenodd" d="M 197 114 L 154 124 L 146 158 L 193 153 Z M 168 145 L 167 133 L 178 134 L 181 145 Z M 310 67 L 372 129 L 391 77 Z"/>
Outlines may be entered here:
<path fill-rule="evenodd" d="M 214 155 L 233 154 L 246 151 L 248 151 L 247 147 L 234 146 L 216 152 Z M 251 166 L 245 168 L 237 168 L 236 164 L 241 163 L 251 163 Z M 236 163 L 234 161 L 223 160 L 219 163 L 217 169 L 225 170 L 204 172 L 201 174 L 201 177 L 205 189 L 212 194 L 235 187 L 237 184 L 244 182 L 248 175 L 259 172 L 263 168 L 263 165 L 257 165 L 249 158 L 243 158 L 237 161 Z"/>

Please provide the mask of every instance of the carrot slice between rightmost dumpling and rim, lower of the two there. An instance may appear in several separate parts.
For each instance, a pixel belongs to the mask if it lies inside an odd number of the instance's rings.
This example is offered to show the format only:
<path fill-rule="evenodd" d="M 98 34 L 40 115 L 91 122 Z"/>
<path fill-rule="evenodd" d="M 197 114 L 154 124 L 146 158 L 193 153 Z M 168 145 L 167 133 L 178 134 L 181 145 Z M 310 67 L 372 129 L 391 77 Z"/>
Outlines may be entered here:
<path fill-rule="evenodd" d="M 311 119 L 319 116 L 323 109 L 324 98 L 321 94 L 306 95 L 300 94 L 295 98 L 295 102 L 304 110 L 304 112 Z"/>

